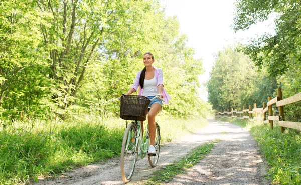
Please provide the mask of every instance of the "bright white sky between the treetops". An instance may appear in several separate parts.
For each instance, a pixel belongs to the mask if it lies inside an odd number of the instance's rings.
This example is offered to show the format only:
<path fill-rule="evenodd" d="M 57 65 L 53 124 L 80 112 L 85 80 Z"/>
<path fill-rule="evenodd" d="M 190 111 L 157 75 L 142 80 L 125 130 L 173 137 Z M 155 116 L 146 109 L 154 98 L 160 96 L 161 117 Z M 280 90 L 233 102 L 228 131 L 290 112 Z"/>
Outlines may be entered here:
<path fill-rule="evenodd" d="M 188 36 L 187 46 L 195 49 L 194 58 L 203 59 L 205 73 L 199 77 L 204 84 L 214 63 L 214 54 L 236 42 L 249 43 L 251 38 L 265 32 L 273 33 L 273 19 L 251 26 L 246 31 L 235 33 L 231 29 L 235 0 L 163 0 L 167 16 L 177 16 L 180 32 Z M 257 36 L 258 35 L 258 36 Z M 201 85 L 201 98 L 207 101 L 208 93 Z"/>

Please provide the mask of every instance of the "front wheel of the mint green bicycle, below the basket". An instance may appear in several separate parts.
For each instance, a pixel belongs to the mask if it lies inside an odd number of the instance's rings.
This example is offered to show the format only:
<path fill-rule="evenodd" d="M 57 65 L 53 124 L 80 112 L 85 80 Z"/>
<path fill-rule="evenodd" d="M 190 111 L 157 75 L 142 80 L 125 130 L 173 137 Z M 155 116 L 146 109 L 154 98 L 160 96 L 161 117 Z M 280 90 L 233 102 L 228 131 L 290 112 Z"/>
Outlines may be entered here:
<path fill-rule="evenodd" d="M 121 148 L 121 177 L 127 183 L 133 176 L 138 158 L 138 147 L 135 145 L 137 129 L 135 123 L 130 123 L 124 133 Z"/>

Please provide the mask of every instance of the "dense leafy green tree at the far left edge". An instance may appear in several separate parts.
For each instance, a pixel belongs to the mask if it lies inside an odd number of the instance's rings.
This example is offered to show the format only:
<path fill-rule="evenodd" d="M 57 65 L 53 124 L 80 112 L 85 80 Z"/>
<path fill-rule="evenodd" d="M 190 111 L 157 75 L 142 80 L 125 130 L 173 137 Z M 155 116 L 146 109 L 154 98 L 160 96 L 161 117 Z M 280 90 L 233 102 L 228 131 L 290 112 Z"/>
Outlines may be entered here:
<path fill-rule="evenodd" d="M 43 22 L 32 1 L 2 1 L 0 12 L 0 106 L 28 110 L 45 79 L 37 50 Z"/>

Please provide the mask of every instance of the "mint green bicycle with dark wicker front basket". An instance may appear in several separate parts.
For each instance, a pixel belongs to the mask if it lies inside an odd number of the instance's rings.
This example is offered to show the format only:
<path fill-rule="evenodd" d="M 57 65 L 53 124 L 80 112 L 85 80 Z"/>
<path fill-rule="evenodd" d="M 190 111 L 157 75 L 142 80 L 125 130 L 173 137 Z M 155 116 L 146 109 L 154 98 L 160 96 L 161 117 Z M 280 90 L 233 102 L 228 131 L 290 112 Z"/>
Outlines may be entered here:
<path fill-rule="evenodd" d="M 120 105 L 120 117 L 126 120 L 132 120 L 126 126 L 123 136 L 121 148 L 121 177 L 125 183 L 128 183 L 135 169 L 136 161 L 138 159 L 138 150 L 140 149 L 140 158 L 143 159 L 147 155 L 149 149 L 149 133 L 148 124 L 146 126 L 145 141 L 142 138 L 141 121 L 146 120 L 146 115 L 149 111 L 149 103 L 154 99 L 161 99 L 159 95 L 149 99 L 145 96 L 139 95 L 122 95 Z M 162 100 L 163 101 L 163 100 Z M 156 122 L 155 134 L 155 150 L 156 155 L 147 155 L 149 165 L 155 167 L 157 165 L 160 153 L 160 127 Z"/>

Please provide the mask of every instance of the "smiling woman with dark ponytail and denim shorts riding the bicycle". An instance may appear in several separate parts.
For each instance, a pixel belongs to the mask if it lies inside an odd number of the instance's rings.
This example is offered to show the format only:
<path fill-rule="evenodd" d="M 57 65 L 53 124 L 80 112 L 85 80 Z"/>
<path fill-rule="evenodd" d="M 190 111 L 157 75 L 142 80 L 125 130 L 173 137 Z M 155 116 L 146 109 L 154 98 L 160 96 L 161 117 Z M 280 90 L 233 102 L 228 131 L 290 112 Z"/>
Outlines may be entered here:
<path fill-rule="evenodd" d="M 144 69 L 139 71 L 136 75 L 134 84 L 128 90 L 125 95 L 130 95 L 137 91 L 139 88 L 139 95 L 146 96 L 149 99 L 154 98 L 157 94 L 160 94 L 160 97 L 163 98 L 164 102 L 168 104 L 168 101 L 171 99 L 166 90 L 163 87 L 163 73 L 160 68 L 153 66 L 154 55 L 150 52 L 147 52 L 143 55 L 143 64 Z M 148 112 L 148 131 L 149 131 L 149 150 L 148 155 L 156 155 L 155 151 L 155 131 L 156 131 L 156 122 L 155 117 L 162 110 L 162 100 L 155 99 L 149 103 L 150 110 Z M 141 129 L 143 133 L 143 121 L 141 121 Z"/>

